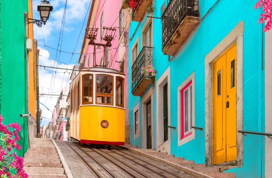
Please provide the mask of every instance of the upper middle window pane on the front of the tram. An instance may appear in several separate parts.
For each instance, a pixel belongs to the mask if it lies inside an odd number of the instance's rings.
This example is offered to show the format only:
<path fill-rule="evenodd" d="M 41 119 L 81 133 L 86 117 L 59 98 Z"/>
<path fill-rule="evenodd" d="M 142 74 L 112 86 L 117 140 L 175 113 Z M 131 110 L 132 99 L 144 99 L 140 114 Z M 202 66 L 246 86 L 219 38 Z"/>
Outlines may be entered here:
<path fill-rule="evenodd" d="M 96 92 L 112 94 L 112 77 L 96 76 Z"/>

